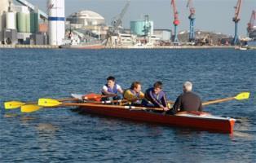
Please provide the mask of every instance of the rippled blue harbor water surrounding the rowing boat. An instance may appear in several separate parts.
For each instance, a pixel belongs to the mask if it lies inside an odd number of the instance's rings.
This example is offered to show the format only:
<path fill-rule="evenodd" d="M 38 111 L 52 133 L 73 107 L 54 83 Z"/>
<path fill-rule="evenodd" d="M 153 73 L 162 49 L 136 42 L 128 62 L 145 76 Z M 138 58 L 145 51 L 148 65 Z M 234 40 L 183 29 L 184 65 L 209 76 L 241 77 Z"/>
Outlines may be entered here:
<path fill-rule="evenodd" d="M 256 162 L 256 51 L 2 50 L 0 162 Z M 237 119 L 233 135 L 82 115 L 71 108 L 5 111 L 8 100 L 99 93 L 113 75 L 123 87 L 164 83 L 168 99 L 184 81 L 204 101 L 250 91 L 251 98 L 205 111 Z"/>

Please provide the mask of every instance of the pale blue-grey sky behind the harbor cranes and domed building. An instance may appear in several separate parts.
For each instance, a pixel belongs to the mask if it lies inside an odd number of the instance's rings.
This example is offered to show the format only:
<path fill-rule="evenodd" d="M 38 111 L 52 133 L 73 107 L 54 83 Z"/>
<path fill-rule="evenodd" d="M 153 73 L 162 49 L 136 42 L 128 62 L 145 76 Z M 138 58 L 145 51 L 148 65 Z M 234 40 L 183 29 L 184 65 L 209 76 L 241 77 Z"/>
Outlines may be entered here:
<path fill-rule="evenodd" d="M 47 0 L 28 0 L 46 11 Z M 189 29 L 189 10 L 186 7 L 188 0 L 176 0 L 179 11 L 179 31 Z M 99 13 L 105 18 L 106 24 L 111 24 L 113 17 L 118 15 L 127 0 L 65 0 L 65 15 L 81 10 L 90 10 Z M 237 0 L 192 0 L 196 8 L 195 29 L 234 35 L 234 16 Z M 256 10 L 256 0 L 242 0 L 238 34 L 246 36 L 247 23 L 253 10 Z M 174 20 L 173 8 L 170 0 L 130 0 L 130 7 L 123 17 L 123 26 L 130 28 L 131 20 L 141 20 L 149 15 L 154 22 L 154 29 L 172 29 Z M 256 25 L 256 22 L 255 22 Z"/>

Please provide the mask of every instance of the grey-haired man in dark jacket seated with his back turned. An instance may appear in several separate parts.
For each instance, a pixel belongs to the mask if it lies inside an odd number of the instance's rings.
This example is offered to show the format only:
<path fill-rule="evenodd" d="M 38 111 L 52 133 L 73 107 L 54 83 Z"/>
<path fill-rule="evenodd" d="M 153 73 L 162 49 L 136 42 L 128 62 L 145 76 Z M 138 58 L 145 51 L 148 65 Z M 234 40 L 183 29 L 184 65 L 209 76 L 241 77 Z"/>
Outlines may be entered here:
<path fill-rule="evenodd" d="M 183 84 L 183 94 L 176 99 L 172 113 L 183 111 L 203 111 L 201 99 L 192 92 L 192 82 L 186 81 Z"/>

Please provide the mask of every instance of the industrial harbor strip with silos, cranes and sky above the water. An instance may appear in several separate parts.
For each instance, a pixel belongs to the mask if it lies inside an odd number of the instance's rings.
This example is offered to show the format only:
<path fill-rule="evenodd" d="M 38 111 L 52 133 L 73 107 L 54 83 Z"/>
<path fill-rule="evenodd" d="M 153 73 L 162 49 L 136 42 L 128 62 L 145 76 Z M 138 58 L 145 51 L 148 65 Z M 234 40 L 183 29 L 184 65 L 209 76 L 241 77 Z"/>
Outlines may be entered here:
<path fill-rule="evenodd" d="M 2 0 L 0 48 L 255 49 L 253 1 Z"/>

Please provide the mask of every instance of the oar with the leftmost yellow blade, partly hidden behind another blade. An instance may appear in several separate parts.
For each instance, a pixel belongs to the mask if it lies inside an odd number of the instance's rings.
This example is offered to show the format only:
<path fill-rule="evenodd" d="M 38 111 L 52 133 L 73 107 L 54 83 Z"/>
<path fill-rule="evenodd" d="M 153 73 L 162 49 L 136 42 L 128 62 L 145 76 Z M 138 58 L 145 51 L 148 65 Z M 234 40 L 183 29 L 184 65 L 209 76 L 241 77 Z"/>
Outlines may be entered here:
<path fill-rule="evenodd" d="M 65 98 L 65 99 L 58 99 L 59 101 L 72 101 L 72 100 L 78 100 L 75 98 Z M 23 105 L 27 104 L 38 104 L 38 102 L 21 102 L 21 101 L 7 101 L 4 103 L 5 109 L 14 109 L 14 108 L 20 108 Z"/>

